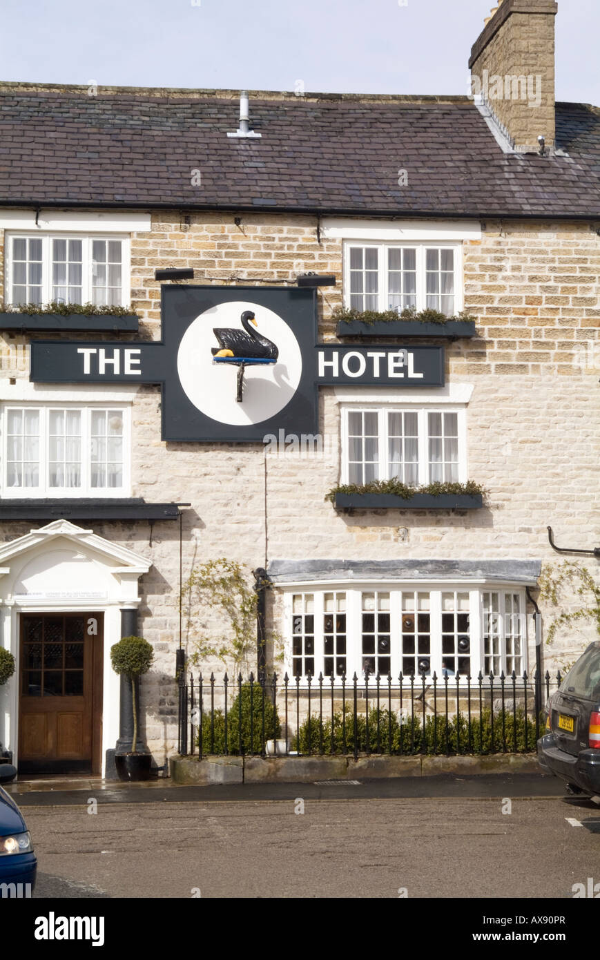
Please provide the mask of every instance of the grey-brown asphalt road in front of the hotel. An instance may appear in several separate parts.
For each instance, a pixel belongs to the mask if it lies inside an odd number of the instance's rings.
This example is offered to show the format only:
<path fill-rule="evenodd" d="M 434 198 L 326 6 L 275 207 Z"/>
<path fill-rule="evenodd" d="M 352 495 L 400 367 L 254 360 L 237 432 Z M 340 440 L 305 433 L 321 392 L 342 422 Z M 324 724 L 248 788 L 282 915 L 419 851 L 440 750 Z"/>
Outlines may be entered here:
<path fill-rule="evenodd" d="M 166 790 L 131 803 L 99 792 L 91 814 L 85 791 L 65 805 L 30 795 L 35 896 L 571 899 L 574 883 L 600 880 L 600 807 L 556 796 L 555 780 L 427 780 L 427 797 L 406 780 L 400 796 L 390 781 L 270 785 L 278 799 L 245 790 L 182 801 L 177 790 L 173 802 Z M 550 784 L 555 796 L 544 796 Z"/>

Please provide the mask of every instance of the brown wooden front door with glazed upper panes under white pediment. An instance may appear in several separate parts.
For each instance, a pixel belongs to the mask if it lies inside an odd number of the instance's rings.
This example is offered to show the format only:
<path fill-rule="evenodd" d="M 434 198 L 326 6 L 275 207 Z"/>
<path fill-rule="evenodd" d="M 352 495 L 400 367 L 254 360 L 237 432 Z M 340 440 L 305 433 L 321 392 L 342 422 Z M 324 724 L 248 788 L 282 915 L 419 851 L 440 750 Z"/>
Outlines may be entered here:
<path fill-rule="evenodd" d="M 100 773 L 103 616 L 21 614 L 19 773 Z"/>

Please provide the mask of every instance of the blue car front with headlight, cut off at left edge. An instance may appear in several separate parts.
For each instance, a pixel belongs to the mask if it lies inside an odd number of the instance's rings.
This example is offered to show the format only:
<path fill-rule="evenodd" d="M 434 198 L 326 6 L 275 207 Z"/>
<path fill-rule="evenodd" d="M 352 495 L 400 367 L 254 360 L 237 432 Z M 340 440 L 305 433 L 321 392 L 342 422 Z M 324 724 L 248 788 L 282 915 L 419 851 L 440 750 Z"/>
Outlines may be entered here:
<path fill-rule="evenodd" d="M 14 779 L 16 771 L 0 763 L 0 783 Z M 0 786 L 0 900 L 31 897 L 36 886 L 37 860 L 32 838 L 18 806 Z"/>

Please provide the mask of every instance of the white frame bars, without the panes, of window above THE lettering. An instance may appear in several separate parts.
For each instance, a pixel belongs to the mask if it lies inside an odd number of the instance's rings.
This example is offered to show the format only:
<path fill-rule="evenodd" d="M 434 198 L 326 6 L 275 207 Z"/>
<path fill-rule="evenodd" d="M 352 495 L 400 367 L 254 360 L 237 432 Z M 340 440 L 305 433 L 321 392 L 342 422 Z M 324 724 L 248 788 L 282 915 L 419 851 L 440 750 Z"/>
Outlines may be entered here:
<path fill-rule="evenodd" d="M 128 233 L 78 233 L 75 230 L 7 230 L 5 233 L 5 302 L 12 304 L 13 258 L 12 241 L 14 239 L 33 239 L 42 241 L 41 301 L 54 300 L 52 280 L 52 241 L 82 241 L 82 303 L 93 302 L 92 287 L 92 243 L 94 240 L 119 240 L 121 242 L 121 299 L 118 306 L 129 306 L 131 301 L 131 237 Z M 68 284 L 66 284 L 68 286 Z"/>

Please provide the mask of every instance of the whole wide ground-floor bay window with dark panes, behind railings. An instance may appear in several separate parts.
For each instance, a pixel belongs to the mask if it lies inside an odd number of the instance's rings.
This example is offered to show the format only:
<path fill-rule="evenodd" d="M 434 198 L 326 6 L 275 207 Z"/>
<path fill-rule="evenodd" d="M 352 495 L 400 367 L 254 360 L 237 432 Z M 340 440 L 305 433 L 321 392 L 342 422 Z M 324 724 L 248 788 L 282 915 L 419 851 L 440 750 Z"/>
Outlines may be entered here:
<path fill-rule="evenodd" d="M 451 683 L 522 676 L 526 664 L 525 597 L 521 588 L 456 585 L 365 585 L 286 592 L 286 669 L 294 678 L 323 673 L 362 683 L 424 679 Z"/>

